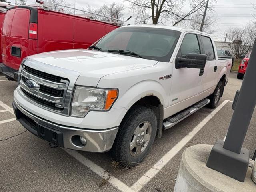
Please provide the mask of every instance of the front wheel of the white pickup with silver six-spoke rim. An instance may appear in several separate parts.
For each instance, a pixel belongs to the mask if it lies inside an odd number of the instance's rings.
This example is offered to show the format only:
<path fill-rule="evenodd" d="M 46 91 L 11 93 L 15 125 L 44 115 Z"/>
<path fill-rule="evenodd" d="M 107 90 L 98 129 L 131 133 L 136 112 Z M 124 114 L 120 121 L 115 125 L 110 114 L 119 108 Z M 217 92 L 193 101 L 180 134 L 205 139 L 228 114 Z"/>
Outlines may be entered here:
<path fill-rule="evenodd" d="M 121 166 L 133 167 L 142 162 L 156 137 L 154 111 L 144 106 L 132 107 L 122 120 L 110 156 Z"/>

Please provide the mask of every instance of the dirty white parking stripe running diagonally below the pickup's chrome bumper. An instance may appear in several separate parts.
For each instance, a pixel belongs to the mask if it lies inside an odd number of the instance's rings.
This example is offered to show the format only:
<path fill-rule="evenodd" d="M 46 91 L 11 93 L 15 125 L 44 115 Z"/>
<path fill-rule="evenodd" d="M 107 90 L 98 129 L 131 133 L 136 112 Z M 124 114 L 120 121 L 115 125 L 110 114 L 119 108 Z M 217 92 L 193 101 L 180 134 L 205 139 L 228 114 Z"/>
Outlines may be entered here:
<path fill-rule="evenodd" d="M 68 154 L 70 154 L 72 157 L 74 157 L 76 160 L 78 160 L 80 163 L 84 164 L 86 167 L 88 167 L 90 170 L 95 172 L 98 176 L 101 178 L 107 179 L 109 178 L 108 182 L 112 184 L 114 187 L 116 187 L 118 190 L 122 192 L 134 192 L 129 186 L 115 178 L 114 176 L 110 175 L 106 170 L 102 169 L 100 166 L 96 165 L 91 160 L 84 157 L 82 154 L 78 153 L 75 150 L 65 149 L 62 148 L 64 151 L 66 151 Z"/>

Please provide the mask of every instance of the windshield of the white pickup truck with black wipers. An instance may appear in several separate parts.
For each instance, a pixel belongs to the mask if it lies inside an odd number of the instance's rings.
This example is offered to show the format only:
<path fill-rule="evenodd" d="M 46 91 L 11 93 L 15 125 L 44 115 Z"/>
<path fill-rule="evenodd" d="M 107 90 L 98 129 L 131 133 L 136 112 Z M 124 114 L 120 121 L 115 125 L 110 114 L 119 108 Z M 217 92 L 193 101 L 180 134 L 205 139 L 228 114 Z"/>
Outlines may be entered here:
<path fill-rule="evenodd" d="M 175 30 L 123 27 L 110 32 L 94 46 L 106 52 L 108 50 L 129 50 L 146 59 L 169 62 L 179 36 L 180 32 Z M 124 54 L 124 52 L 114 53 Z M 129 56 L 136 55 L 129 54 Z"/>

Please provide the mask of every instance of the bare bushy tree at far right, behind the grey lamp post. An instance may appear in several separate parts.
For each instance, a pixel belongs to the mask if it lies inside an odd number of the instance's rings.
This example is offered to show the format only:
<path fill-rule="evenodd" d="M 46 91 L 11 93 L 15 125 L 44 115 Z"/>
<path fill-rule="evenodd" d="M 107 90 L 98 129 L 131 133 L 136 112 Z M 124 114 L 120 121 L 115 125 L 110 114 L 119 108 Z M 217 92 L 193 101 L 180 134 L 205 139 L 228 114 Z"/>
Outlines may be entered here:
<path fill-rule="evenodd" d="M 231 42 L 230 49 L 236 59 L 252 50 L 256 38 L 256 22 L 248 24 L 244 28 L 230 28 L 228 30 L 228 40 Z"/>

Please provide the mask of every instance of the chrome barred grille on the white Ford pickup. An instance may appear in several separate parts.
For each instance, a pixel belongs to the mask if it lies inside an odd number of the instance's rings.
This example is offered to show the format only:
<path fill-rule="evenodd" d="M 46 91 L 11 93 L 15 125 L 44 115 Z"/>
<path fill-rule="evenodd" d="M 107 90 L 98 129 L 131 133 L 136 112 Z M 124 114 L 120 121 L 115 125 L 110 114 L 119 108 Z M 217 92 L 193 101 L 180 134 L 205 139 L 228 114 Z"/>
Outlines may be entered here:
<path fill-rule="evenodd" d="M 40 87 L 29 88 L 26 85 L 27 80 L 32 80 Z M 22 92 L 32 101 L 46 108 L 56 111 L 63 110 L 68 84 L 69 81 L 66 78 L 48 74 L 26 65 L 22 67 L 20 80 Z"/>

